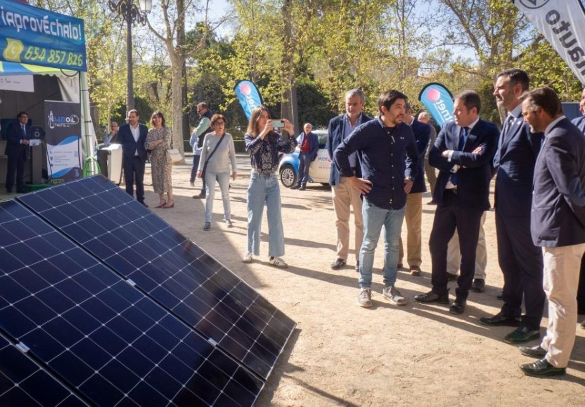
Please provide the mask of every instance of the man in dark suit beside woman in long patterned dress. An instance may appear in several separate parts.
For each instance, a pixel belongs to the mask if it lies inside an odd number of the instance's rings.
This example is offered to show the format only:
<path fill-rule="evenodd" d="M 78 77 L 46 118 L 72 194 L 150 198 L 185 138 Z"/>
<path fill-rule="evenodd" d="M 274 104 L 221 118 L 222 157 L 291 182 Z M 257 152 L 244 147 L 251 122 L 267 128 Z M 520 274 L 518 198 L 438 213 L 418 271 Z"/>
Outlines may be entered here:
<path fill-rule="evenodd" d="M 122 144 L 122 167 L 126 192 L 134 195 L 134 180 L 136 180 L 136 201 L 144 206 L 144 163 L 146 163 L 146 126 L 138 123 L 140 115 L 132 109 L 128 112 L 128 123 L 120 126 L 116 141 Z"/>

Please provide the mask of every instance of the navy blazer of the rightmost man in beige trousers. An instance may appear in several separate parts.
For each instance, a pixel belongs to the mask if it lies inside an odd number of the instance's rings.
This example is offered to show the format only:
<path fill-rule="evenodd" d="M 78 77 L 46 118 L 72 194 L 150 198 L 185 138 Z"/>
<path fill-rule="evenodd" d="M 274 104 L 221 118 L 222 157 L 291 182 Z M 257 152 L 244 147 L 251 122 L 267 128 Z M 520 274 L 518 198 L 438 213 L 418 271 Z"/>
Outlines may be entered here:
<path fill-rule="evenodd" d="M 534 168 L 530 229 L 536 246 L 585 243 L 585 137 L 564 118 L 550 130 Z"/>

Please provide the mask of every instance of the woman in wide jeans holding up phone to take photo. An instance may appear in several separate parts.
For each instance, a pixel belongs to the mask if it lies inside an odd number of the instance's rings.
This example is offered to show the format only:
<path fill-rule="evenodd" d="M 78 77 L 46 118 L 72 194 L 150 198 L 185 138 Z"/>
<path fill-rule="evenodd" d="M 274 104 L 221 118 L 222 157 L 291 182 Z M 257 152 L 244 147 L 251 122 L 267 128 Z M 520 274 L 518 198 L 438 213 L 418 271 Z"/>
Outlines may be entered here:
<path fill-rule="evenodd" d="M 274 131 L 273 124 L 284 125 L 289 136 L 284 139 Z M 243 258 L 250 263 L 252 256 L 260 255 L 260 225 L 266 203 L 268 216 L 268 256 L 269 263 L 276 267 L 288 265 L 281 258 L 284 256 L 283 219 L 280 213 L 280 187 L 276 177 L 278 153 L 290 154 L 297 147 L 294 129 L 286 119 L 270 120 L 270 113 L 264 106 L 257 106 L 252 111 L 244 140 L 246 151 L 250 153 L 252 174 L 247 190 L 248 202 L 248 251 Z"/>

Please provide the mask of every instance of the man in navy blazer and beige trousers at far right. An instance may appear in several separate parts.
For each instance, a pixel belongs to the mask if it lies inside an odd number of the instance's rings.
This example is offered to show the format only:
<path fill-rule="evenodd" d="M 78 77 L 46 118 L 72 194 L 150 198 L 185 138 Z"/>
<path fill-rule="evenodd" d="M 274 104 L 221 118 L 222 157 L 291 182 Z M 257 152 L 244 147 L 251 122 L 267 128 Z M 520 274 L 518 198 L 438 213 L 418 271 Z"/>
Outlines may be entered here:
<path fill-rule="evenodd" d="M 585 137 L 563 116 L 555 91 L 521 96 L 522 116 L 545 140 L 534 168 L 530 229 L 542 247 L 549 325 L 540 345 L 521 346 L 540 358 L 520 368 L 528 375 L 565 374 L 577 325 L 579 265 L 585 253 Z"/>

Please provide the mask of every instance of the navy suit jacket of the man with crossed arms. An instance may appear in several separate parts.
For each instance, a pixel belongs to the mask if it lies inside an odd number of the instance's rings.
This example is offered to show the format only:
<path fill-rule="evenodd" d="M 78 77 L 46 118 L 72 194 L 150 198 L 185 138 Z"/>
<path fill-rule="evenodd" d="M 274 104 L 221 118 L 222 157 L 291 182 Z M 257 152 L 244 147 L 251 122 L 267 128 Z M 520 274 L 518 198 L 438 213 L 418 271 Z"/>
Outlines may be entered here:
<path fill-rule="evenodd" d="M 463 151 L 456 151 L 461 132 L 461 127 L 455 122 L 445 123 L 429 153 L 429 164 L 439 169 L 433 199 L 439 204 L 443 202 L 443 193 L 452 174 L 451 169 L 459 164 L 461 167 L 457 171 L 457 202 L 467 208 L 487 211 L 490 209 L 492 161 L 500 132 L 494 123 L 479 119 L 467 135 Z M 472 154 L 480 146 L 483 147 L 481 153 Z M 445 150 L 454 151 L 450 161 L 441 155 Z"/>

